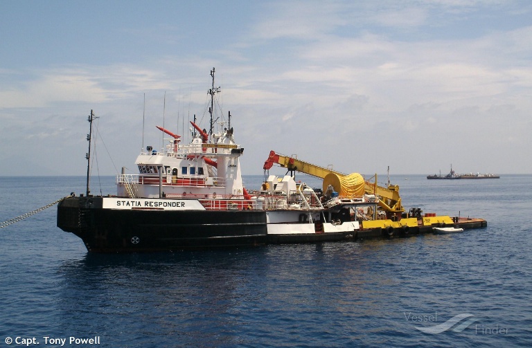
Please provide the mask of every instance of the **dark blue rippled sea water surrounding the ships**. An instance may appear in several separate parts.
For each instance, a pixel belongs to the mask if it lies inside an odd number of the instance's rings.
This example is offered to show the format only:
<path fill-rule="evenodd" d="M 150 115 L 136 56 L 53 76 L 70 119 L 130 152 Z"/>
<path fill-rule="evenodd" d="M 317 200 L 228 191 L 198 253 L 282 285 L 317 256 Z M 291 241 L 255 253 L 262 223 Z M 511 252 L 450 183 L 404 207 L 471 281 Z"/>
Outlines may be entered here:
<path fill-rule="evenodd" d="M 391 182 L 407 209 L 481 217 L 488 227 L 91 255 L 55 226 L 54 205 L 0 228 L 0 347 L 532 346 L 532 176 Z M 91 188 L 112 194 L 114 177 L 93 178 Z M 84 178 L 0 177 L 0 222 L 72 191 L 85 191 Z M 80 340 L 94 337 L 98 344 Z"/>

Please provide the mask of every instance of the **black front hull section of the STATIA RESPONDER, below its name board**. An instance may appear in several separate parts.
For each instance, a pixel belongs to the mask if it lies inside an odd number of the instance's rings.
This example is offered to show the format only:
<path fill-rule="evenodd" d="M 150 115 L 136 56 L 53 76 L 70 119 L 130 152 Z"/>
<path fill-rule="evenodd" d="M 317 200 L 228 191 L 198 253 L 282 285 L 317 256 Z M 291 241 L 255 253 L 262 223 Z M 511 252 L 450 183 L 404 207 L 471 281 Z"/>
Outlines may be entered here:
<path fill-rule="evenodd" d="M 114 210 L 98 197 L 69 197 L 57 227 L 95 253 L 147 252 L 266 244 L 266 213 L 257 210 Z"/>

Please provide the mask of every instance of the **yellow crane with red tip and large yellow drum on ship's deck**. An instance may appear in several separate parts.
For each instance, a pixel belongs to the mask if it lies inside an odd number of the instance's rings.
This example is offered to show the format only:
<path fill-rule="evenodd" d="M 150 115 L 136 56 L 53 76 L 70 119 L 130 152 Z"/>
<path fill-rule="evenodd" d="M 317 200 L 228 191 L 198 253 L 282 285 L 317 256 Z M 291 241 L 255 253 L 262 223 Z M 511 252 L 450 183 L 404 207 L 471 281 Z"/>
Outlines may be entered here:
<path fill-rule="evenodd" d="M 323 192 L 327 190 L 329 185 L 332 185 L 340 196 L 345 196 L 347 198 L 362 196 L 364 194 L 378 195 L 379 206 L 387 213 L 389 219 L 391 219 L 392 216 L 400 219 L 402 212 L 405 211 L 405 208 L 401 205 L 399 186 L 388 185 L 388 187 L 382 187 L 377 185 L 377 174 L 374 176 L 375 182 L 370 183 L 369 181 L 364 181 L 362 175 L 358 173 L 344 174 L 335 172 L 331 168 L 313 165 L 312 163 L 301 161 L 294 156 L 289 157 L 276 154 L 274 151 L 269 152 L 269 157 L 264 163 L 264 170 L 269 170 L 275 163 L 292 172 L 297 171 L 316 176 L 317 178 L 322 178 Z"/>

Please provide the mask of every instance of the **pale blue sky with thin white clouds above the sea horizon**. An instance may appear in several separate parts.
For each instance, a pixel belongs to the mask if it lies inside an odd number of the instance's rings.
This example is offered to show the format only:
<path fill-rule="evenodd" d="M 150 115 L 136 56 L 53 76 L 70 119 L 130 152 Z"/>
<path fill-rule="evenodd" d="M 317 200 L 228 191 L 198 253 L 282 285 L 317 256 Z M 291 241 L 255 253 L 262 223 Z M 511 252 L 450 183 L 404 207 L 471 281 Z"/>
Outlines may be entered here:
<path fill-rule="evenodd" d="M 0 175 L 84 175 L 91 109 L 93 173 L 133 169 L 144 107 L 144 145 L 162 146 L 163 122 L 206 127 L 213 67 L 243 174 L 269 150 L 346 173 L 532 173 L 529 1 L 0 8 Z"/>

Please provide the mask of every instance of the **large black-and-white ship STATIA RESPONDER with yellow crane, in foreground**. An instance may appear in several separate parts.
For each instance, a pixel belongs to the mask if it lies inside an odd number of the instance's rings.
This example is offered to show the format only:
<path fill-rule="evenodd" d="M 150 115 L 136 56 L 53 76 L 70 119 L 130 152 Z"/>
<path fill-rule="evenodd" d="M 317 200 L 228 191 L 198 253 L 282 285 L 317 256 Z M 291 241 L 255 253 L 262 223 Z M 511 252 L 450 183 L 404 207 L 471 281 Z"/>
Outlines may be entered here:
<path fill-rule="evenodd" d="M 272 151 L 264 163 L 264 181 L 256 190 L 242 182 L 240 157 L 231 112 L 214 129 L 215 69 L 209 130 L 196 122 L 190 143 L 170 136 L 157 151 L 148 146 L 136 158 L 136 174 L 116 176 L 116 195 L 94 196 L 89 173 L 91 134 L 88 118 L 87 191 L 71 193 L 57 206 L 57 226 L 80 237 L 91 253 L 121 253 L 227 248 L 265 244 L 398 237 L 432 232 L 433 228 L 481 228 L 484 219 L 405 212 L 398 185 L 387 187 Z M 225 127 L 227 125 L 227 127 Z M 269 175 L 273 165 L 287 168 Z M 290 174 L 289 174 L 290 172 Z M 321 190 L 295 181 L 295 172 L 323 179 Z"/>

